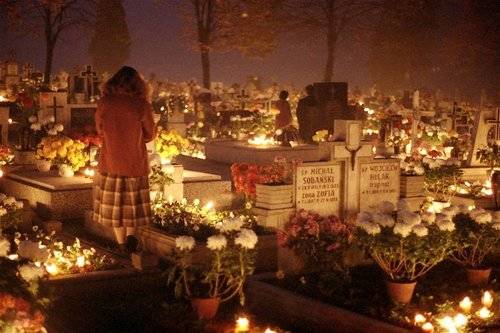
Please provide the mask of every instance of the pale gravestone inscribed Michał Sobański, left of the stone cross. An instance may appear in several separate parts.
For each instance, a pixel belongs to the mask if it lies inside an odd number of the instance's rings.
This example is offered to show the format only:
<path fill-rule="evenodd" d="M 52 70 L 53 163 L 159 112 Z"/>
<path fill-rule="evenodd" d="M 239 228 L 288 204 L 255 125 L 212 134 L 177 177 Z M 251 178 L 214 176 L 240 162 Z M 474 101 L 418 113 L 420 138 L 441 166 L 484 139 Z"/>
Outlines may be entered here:
<path fill-rule="evenodd" d="M 321 215 L 342 215 L 343 165 L 341 163 L 305 163 L 297 166 L 295 205 Z"/>

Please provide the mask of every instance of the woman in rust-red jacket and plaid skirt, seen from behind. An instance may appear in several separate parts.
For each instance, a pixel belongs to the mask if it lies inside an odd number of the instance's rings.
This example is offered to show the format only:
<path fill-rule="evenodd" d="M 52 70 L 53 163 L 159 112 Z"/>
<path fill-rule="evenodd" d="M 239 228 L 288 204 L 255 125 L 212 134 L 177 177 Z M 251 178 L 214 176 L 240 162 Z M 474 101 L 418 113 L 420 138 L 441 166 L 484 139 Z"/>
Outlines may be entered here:
<path fill-rule="evenodd" d="M 104 86 L 95 114 L 103 138 L 94 178 L 94 222 L 113 228 L 125 249 L 127 236 L 151 220 L 146 143 L 153 140 L 153 110 L 139 73 L 122 67 Z"/>

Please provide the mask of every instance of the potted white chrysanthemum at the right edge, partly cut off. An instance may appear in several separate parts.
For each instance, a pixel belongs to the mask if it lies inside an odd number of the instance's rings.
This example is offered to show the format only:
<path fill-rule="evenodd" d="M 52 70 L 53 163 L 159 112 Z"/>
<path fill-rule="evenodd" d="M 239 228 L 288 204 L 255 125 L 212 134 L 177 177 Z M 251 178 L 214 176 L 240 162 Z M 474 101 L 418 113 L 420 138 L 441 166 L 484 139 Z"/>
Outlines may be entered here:
<path fill-rule="evenodd" d="M 451 257 L 467 269 L 471 285 L 486 284 L 491 267 L 485 259 L 500 242 L 500 211 L 492 214 L 484 209 L 455 208 L 460 212 L 454 218 L 458 247 Z"/>

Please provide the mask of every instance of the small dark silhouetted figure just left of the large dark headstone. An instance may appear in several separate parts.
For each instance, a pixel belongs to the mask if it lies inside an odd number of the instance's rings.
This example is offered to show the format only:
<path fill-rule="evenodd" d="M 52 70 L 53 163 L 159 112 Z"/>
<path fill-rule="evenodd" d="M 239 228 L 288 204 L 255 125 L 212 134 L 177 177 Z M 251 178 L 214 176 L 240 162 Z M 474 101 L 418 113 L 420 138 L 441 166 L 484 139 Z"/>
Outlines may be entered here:
<path fill-rule="evenodd" d="M 312 143 L 315 132 L 315 119 L 318 113 L 318 103 L 314 97 L 314 87 L 306 87 L 307 96 L 299 100 L 297 105 L 297 120 L 299 122 L 299 135 L 302 141 Z"/>

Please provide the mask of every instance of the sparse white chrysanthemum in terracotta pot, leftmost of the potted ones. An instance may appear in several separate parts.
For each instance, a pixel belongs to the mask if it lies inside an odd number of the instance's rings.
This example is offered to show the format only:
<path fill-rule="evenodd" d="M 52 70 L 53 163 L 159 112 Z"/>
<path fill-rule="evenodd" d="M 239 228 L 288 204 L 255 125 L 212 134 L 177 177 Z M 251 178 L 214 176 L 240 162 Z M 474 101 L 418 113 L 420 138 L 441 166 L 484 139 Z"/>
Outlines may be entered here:
<path fill-rule="evenodd" d="M 179 236 L 175 239 L 168 283 L 175 285 L 177 297 L 184 295 L 191 301 L 200 318 L 211 319 L 222 302 L 239 295 L 240 303 L 244 303 L 243 285 L 254 270 L 256 243 L 257 235 L 251 229 L 212 235 L 206 242 L 209 260 L 194 265 L 194 238 Z"/>

